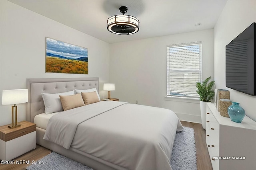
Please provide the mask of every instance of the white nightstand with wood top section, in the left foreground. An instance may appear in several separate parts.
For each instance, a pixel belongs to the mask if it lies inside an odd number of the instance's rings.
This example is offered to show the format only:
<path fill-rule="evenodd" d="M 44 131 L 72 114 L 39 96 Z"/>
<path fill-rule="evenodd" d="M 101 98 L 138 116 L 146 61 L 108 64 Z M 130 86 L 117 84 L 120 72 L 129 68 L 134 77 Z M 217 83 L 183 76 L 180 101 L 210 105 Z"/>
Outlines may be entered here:
<path fill-rule="evenodd" d="M 36 124 L 21 121 L 20 127 L 0 127 L 0 160 L 12 160 L 36 148 Z"/>

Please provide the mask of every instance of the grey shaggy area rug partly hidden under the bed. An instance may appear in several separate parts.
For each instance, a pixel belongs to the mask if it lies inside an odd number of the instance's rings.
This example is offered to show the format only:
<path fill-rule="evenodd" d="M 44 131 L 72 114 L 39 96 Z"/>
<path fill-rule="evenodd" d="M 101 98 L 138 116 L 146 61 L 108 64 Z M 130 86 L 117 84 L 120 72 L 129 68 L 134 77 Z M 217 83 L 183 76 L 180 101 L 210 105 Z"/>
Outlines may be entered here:
<path fill-rule="evenodd" d="M 92 168 L 62 156 L 56 152 L 44 156 L 39 160 L 44 164 L 32 164 L 27 170 L 93 170 Z M 197 170 L 196 145 L 194 129 L 184 127 L 182 132 L 177 132 L 170 159 L 172 170 Z"/>

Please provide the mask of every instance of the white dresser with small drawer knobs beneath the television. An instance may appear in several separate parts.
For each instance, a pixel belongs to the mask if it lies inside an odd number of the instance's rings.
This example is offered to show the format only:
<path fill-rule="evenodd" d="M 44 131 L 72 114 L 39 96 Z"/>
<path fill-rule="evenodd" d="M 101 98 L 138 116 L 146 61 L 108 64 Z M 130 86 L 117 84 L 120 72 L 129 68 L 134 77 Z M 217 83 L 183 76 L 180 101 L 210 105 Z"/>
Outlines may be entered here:
<path fill-rule="evenodd" d="M 206 145 L 213 170 L 256 170 L 256 122 L 247 116 L 242 123 L 233 122 L 214 104 L 207 104 L 206 112 Z"/>

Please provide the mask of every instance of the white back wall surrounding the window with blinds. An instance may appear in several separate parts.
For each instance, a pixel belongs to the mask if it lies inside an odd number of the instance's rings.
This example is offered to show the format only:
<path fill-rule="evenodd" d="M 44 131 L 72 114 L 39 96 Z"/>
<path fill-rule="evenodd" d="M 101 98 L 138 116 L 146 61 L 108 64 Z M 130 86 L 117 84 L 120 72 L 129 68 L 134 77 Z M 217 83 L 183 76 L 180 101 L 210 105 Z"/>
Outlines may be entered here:
<path fill-rule="evenodd" d="M 213 29 L 110 44 L 110 82 L 120 101 L 168 108 L 201 122 L 199 100 L 166 100 L 166 46 L 202 41 L 203 79 L 213 76 Z"/>

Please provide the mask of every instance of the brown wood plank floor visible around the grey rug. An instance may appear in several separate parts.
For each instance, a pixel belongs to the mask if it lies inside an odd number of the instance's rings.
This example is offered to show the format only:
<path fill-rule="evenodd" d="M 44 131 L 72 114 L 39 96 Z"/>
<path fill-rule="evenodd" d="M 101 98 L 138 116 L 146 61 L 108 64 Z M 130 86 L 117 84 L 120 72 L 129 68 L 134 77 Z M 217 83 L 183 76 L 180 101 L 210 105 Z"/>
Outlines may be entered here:
<path fill-rule="evenodd" d="M 186 121 L 181 121 L 183 126 L 192 127 L 195 131 L 195 141 L 196 141 L 196 159 L 197 159 L 197 168 L 198 170 L 212 170 L 212 164 L 210 162 L 210 157 L 208 154 L 208 150 L 206 147 L 206 131 L 202 128 L 201 124 L 191 123 Z M 2 165 L 0 164 L 0 170 L 26 170 L 25 168 L 29 166 L 29 164 L 16 164 L 16 160 L 39 160 L 40 158 L 46 156 L 51 151 L 41 147 L 40 145 L 36 145 L 36 149 L 15 158 L 15 164 L 11 165 Z"/>

